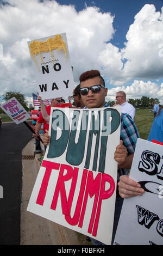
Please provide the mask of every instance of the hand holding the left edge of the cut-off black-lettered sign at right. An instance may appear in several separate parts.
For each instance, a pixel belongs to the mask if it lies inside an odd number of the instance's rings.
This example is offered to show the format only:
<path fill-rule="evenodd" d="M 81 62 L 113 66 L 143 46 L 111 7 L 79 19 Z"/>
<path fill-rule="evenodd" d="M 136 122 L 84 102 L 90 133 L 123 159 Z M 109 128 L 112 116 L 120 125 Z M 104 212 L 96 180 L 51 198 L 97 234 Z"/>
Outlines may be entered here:
<path fill-rule="evenodd" d="M 120 176 L 118 187 L 120 196 L 122 198 L 142 196 L 142 194 L 145 192 L 139 183 L 131 180 L 127 175 Z"/>

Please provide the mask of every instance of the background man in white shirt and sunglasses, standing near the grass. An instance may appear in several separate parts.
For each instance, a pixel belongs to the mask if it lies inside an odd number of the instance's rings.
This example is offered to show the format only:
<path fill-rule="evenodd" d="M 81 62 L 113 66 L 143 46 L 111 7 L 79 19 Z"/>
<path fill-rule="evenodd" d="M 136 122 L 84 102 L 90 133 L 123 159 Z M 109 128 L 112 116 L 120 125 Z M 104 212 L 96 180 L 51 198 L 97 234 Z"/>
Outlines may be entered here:
<path fill-rule="evenodd" d="M 121 91 L 116 94 L 116 105 L 120 105 L 122 108 L 122 113 L 129 114 L 130 117 L 134 120 L 135 108 L 133 105 L 128 103 L 128 101 L 126 101 L 126 93 Z"/>

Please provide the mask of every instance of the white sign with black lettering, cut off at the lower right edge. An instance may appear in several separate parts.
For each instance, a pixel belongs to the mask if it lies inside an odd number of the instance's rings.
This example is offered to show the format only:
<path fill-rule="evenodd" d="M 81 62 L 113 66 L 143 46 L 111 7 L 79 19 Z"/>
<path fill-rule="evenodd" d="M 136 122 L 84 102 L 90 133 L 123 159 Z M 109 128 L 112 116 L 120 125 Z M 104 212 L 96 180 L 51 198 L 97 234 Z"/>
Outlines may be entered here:
<path fill-rule="evenodd" d="M 130 178 L 145 193 L 124 199 L 114 245 L 163 245 L 163 146 L 137 139 Z"/>

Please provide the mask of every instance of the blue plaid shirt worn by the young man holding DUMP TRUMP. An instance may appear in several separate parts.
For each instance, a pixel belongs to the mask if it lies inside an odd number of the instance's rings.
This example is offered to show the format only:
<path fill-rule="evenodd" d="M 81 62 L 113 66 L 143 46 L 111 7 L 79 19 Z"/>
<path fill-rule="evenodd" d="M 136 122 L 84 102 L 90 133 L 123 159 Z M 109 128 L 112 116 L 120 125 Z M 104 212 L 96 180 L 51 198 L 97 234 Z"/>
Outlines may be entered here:
<path fill-rule="evenodd" d="M 105 102 L 103 107 L 110 107 L 108 102 Z M 84 109 L 87 107 L 85 106 Z M 121 114 L 121 133 L 120 138 L 123 141 L 123 145 L 127 148 L 128 155 L 133 154 L 136 147 L 137 138 L 139 138 L 139 132 L 137 127 L 128 114 Z M 121 175 L 128 175 L 129 169 L 118 168 L 117 182 L 120 180 Z"/>

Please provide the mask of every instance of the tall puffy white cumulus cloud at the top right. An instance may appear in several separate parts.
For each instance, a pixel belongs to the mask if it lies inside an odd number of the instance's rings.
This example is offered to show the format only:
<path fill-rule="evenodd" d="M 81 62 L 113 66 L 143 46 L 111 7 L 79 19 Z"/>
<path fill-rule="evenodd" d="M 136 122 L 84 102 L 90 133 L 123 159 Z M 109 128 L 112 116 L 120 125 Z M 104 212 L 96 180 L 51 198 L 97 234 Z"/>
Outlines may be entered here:
<path fill-rule="evenodd" d="M 149 4 L 135 16 L 126 35 L 126 47 L 122 49 L 122 57 L 127 59 L 122 75 L 128 80 L 162 77 L 163 58 L 159 56 L 159 45 L 163 42 L 162 17 Z"/>

